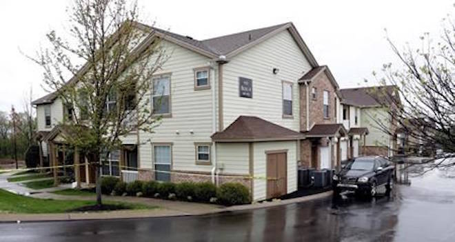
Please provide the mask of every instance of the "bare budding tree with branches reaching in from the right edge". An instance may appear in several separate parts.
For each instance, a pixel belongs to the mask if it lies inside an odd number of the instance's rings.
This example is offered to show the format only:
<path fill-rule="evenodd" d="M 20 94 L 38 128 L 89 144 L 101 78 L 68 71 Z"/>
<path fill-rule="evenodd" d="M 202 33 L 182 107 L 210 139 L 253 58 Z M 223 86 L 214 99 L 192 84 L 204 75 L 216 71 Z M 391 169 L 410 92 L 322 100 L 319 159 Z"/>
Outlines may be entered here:
<path fill-rule="evenodd" d="M 372 96 L 383 105 L 392 103 L 397 107 L 387 109 L 397 129 L 381 127 L 380 123 L 378 126 L 395 137 L 398 153 L 432 155 L 436 148 L 446 154 L 455 153 L 455 25 L 449 20 L 445 23 L 441 42 L 434 43 L 425 33 L 421 37 L 423 48 L 408 45 L 398 50 L 387 38 L 400 67 L 383 65 L 384 75 L 378 81 L 392 85 L 394 92 L 376 88 Z M 454 165 L 444 161 L 438 160 L 434 167 Z"/>

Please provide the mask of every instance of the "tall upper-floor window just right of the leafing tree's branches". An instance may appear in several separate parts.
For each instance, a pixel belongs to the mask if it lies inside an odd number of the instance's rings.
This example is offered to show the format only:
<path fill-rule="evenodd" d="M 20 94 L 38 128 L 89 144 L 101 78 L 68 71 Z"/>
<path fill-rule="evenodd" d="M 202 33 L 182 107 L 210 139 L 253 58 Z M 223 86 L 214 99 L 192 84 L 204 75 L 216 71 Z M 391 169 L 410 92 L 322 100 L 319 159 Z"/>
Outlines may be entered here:
<path fill-rule="evenodd" d="M 153 79 L 152 94 L 154 114 L 170 114 L 170 76 L 161 75 Z"/>

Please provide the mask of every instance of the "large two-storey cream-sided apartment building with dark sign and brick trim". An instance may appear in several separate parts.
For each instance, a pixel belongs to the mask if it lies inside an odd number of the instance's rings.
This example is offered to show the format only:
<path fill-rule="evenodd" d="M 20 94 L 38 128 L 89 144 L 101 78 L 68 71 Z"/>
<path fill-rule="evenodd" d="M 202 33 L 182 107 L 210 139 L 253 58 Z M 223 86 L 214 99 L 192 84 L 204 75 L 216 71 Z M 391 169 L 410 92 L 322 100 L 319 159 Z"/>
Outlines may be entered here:
<path fill-rule="evenodd" d="M 152 90 L 150 106 L 163 119 L 153 134 L 125 137 L 123 148 L 103 163 L 103 175 L 125 181 L 236 181 L 258 201 L 297 190 L 299 165 L 339 165 L 347 130 L 337 121 L 338 84 L 292 23 L 204 41 L 139 23 L 137 28 L 153 32 L 151 37 L 172 50 L 152 80 L 164 91 Z M 158 97 L 165 101 L 154 105 Z M 65 129 L 57 124 L 67 109 L 56 94 L 33 104 L 44 156 L 66 162 L 59 158 L 69 152 Z M 75 172 L 77 180 L 93 182 L 90 157 L 74 154 L 74 163 L 85 163 Z"/>

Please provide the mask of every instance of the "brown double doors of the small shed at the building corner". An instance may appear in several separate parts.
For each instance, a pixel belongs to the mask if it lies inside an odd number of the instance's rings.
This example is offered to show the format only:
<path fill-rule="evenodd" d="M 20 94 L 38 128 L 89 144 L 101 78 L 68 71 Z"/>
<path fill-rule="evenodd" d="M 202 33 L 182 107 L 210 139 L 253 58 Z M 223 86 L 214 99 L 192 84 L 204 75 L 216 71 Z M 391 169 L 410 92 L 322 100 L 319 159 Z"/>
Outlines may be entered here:
<path fill-rule="evenodd" d="M 267 154 L 267 199 L 287 193 L 286 153 Z"/>

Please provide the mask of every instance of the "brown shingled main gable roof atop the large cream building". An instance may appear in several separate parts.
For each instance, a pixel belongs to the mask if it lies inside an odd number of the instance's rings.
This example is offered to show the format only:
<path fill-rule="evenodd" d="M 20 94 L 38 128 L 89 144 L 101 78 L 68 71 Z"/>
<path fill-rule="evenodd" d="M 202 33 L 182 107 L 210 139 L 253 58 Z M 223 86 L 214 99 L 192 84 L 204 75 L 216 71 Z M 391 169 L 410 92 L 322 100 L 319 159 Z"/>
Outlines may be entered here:
<path fill-rule="evenodd" d="M 294 38 L 294 41 L 296 41 L 297 45 L 302 50 L 310 65 L 312 65 L 312 67 L 318 66 L 318 63 L 314 58 L 312 52 L 310 52 L 310 49 L 307 47 L 301 35 L 296 30 L 294 24 L 291 22 L 282 23 L 266 28 L 248 30 L 245 32 L 238 32 L 235 34 L 228 34 L 212 39 L 205 39 L 202 41 L 192 39 L 191 37 L 186 37 L 181 34 L 176 34 L 167 30 L 162 30 L 153 26 L 148 26 L 139 22 L 134 22 L 134 25 L 140 30 L 150 32 L 150 35 L 146 37 L 136 49 L 143 48 L 143 46 L 146 46 L 146 43 L 149 43 L 151 39 L 154 37 L 159 37 L 170 41 L 171 43 L 175 43 L 176 45 L 183 48 L 188 48 L 189 50 L 202 54 L 205 57 L 209 57 L 211 59 L 221 59 L 221 56 L 224 56 L 225 58 L 232 58 L 234 55 L 239 54 L 240 52 L 243 52 L 244 50 L 247 50 L 248 48 L 251 48 L 258 43 L 261 43 L 270 37 L 273 37 L 275 34 L 278 34 L 283 30 L 288 30 Z M 88 68 L 88 63 L 85 63 L 81 70 L 79 70 L 79 72 L 74 75 L 74 77 L 72 77 L 72 79 L 70 79 L 70 81 L 67 83 L 71 83 L 74 81 L 74 79 L 77 79 L 77 75 L 83 74 L 88 70 Z M 57 92 L 52 92 L 46 96 L 33 101 L 32 104 L 40 105 L 52 103 L 58 95 Z"/>

